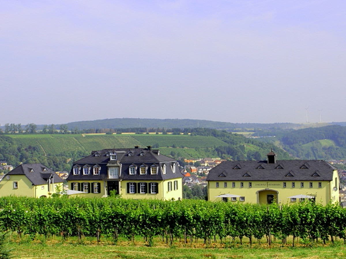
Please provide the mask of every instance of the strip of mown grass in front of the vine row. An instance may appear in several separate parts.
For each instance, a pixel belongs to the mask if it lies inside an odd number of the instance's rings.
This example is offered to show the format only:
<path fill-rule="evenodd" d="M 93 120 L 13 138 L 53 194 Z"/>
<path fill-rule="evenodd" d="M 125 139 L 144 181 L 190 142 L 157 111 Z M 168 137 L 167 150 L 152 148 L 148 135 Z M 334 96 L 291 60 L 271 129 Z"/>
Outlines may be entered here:
<path fill-rule="evenodd" d="M 83 241 L 58 242 L 57 240 L 40 243 L 39 240 L 11 242 L 12 255 L 15 258 L 345 258 L 346 246 L 341 242 L 334 245 L 314 247 L 280 247 L 273 244 L 266 247 L 261 244 L 233 245 L 219 248 L 218 244 L 209 247 L 186 244 L 185 247 L 172 247 L 161 244 L 155 247 L 138 246 L 135 243 L 112 245 Z"/>

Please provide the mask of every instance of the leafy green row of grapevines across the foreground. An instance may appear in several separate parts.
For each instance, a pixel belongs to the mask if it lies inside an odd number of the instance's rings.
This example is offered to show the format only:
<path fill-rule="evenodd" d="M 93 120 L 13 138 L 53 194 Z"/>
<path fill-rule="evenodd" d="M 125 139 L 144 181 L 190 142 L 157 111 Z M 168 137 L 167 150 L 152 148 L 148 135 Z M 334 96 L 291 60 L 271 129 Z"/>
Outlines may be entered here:
<path fill-rule="evenodd" d="M 346 210 L 338 204 L 322 206 L 311 202 L 293 205 L 261 205 L 207 202 L 202 200 L 158 201 L 119 198 L 35 199 L 8 196 L 0 198 L 0 230 L 35 239 L 112 237 L 119 235 L 134 241 L 142 236 L 148 246 L 155 237 L 172 245 L 173 240 L 188 243 L 201 239 L 211 242 L 232 242 L 247 237 L 250 245 L 267 237 L 285 243 L 288 236 L 305 243 L 317 240 L 334 242 L 335 237 L 346 240 Z"/>

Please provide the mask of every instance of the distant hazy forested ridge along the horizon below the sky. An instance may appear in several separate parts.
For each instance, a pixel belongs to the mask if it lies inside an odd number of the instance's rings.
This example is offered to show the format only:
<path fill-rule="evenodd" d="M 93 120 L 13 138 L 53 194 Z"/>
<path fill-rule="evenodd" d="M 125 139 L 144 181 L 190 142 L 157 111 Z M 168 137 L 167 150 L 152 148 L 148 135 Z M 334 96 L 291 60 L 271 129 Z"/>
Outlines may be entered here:
<path fill-rule="evenodd" d="M 213 128 L 222 130 L 234 129 L 270 129 L 270 128 L 299 128 L 294 123 L 229 123 L 199 119 L 142 119 L 142 118 L 113 118 L 95 121 L 70 122 L 66 124 L 70 130 L 91 128 Z"/>

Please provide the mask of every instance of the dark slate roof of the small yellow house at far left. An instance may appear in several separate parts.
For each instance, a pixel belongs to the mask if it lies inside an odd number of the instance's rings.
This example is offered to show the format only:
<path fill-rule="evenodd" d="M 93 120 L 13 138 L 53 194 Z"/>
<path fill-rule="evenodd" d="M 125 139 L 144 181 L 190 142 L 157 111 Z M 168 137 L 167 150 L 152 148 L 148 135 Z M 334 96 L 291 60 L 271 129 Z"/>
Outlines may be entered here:
<path fill-rule="evenodd" d="M 6 175 L 25 175 L 33 185 L 47 184 L 49 177 L 54 177 L 55 183 L 61 183 L 61 179 L 53 170 L 43 164 L 21 164 Z"/>

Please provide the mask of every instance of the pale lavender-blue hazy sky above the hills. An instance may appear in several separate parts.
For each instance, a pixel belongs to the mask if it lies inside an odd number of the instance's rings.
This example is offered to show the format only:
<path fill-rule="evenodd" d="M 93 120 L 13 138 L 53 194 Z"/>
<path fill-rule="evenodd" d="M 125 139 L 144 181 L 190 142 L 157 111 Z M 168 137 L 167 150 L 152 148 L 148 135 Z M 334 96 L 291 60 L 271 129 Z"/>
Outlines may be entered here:
<path fill-rule="evenodd" d="M 2 125 L 346 121 L 346 1 L 0 6 Z"/>

